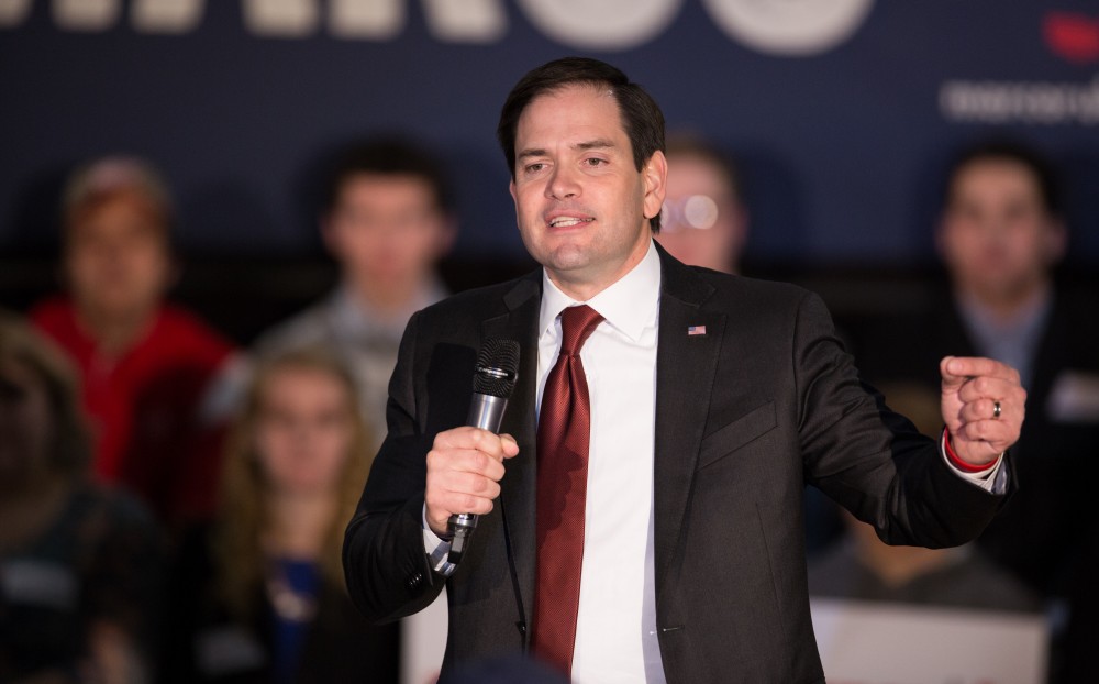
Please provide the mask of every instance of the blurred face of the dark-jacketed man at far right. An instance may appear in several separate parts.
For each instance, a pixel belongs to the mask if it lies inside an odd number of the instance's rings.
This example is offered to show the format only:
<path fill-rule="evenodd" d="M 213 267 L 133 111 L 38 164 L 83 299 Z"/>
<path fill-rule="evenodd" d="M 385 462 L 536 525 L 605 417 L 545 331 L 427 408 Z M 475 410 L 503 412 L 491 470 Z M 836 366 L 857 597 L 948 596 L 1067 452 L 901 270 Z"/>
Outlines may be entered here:
<path fill-rule="evenodd" d="M 1022 300 L 1047 279 L 1065 230 L 1037 178 L 1011 159 L 975 159 L 954 176 L 939 246 L 955 285 L 987 302 Z"/>

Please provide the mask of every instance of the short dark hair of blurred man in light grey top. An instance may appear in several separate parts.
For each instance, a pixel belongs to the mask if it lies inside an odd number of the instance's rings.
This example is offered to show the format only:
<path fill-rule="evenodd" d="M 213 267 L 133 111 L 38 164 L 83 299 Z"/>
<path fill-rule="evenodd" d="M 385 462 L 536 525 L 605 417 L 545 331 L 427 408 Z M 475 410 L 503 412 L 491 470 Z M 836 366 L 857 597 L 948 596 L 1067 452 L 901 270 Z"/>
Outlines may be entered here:
<path fill-rule="evenodd" d="M 452 196 L 440 161 L 426 150 L 398 136 L 375 137 L 352 143 L 338 153 L 324 188 L 324 210 L 340 202 L 344 184 L 354 176 L 414 176 L 428 183 L 436 207 L 452 210 Z"/>

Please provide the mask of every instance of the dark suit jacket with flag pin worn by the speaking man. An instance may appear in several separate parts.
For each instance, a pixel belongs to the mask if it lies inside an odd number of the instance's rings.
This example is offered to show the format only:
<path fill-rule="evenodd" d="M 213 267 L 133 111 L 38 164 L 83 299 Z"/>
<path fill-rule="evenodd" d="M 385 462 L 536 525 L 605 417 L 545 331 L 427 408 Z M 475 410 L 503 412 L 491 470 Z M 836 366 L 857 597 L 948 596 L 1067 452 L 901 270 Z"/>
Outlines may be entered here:
<path fill-rule="evenodd" d="M 958 477 L 934 441 L 859 383 L 817 296 L 688 267 L 663 250 L 660 261 L 655 561 L 668 682 L 823 681 L 806 586 L 806 484 L 887 541 L 929 547 L 972 539 L 1003 497 Z M 446 585 L 444 670 L 528 641 L 541 289 L 536 272 L 410 321 L 390 383 L 389 435 L 347 528 L 348 587 L 370 618 L 398 619 L 437 596 L 443 581 L 423 548 L 424 456 L 437 432 L 464 424 L 481 342 L 519 341 L 502 431 L 520 453 Z M 690 326 L 706 334 L 688 335 Z"/>

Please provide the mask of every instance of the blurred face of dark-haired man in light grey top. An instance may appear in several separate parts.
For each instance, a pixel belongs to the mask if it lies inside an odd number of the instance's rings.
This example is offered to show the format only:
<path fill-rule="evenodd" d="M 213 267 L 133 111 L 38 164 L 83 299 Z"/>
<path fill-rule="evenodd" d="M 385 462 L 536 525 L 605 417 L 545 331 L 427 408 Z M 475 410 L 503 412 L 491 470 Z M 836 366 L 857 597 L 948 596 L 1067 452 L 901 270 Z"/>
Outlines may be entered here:
<path fill-rule="evenodd" d="M 428 180 L 364 173 L 343 181 L 323 232 L 345 276 L 384 298 L 429 277 L 454 230 Z"/>

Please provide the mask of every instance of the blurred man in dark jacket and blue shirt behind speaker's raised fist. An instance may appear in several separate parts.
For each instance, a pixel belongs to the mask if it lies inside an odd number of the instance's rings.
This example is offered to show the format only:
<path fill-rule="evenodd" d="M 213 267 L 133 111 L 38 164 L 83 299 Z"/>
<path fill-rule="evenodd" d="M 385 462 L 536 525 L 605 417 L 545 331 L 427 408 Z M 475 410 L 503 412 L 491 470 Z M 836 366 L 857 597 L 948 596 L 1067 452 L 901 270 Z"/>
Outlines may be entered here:
<path fill-rule="evenodd" d="M 869 382 L 924 396 L 937 394 L 928 365 L 940 354 L 980 354 L 1019 369 L 1030 410 L 1012 456 L 1025 484 L 978 544 L 1044 598 L 1067 598 L 1075 613 L 1074 580 L 1091 580 L 1079 559 L 1099 523 L 1091 496 L 1099 319 L 1092 291 L 1058 287 L 1055 278 L 1068 238 L 1058 187 L 1051 162 L 1017 141 L 962 150 L 946 174 L 935 232 L 948 284 L 925 311 L 882 321 L 859 358 Z M 1068 625 L 1069 632 L 1087 629 L 1075 616 Z M 1062 681 L 1064 638 L 1054 631 L 1051 682 Z"/>

